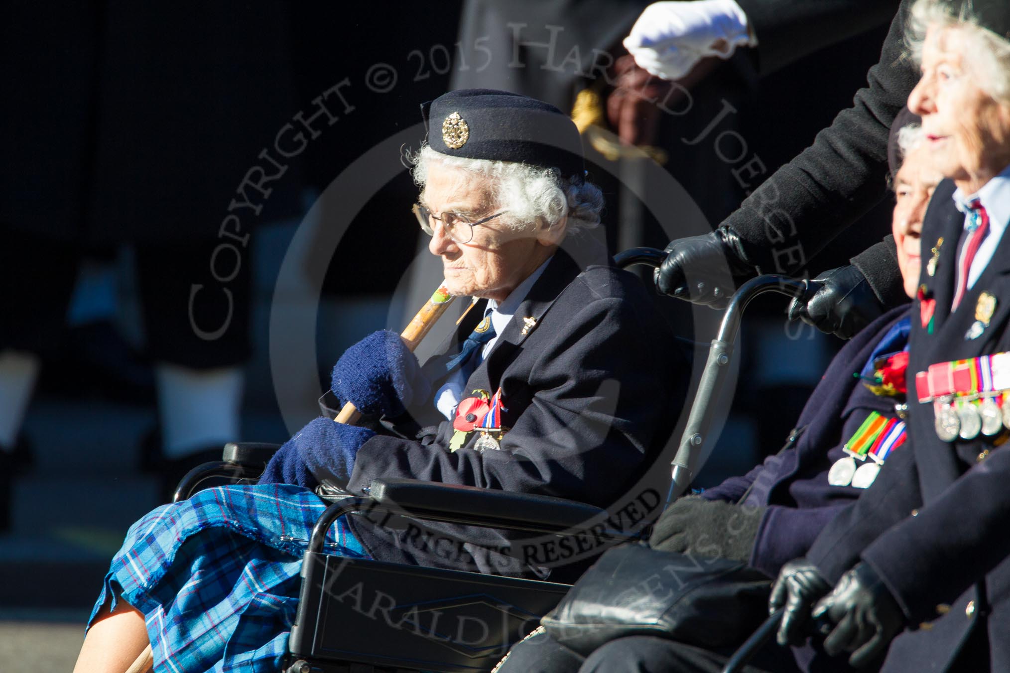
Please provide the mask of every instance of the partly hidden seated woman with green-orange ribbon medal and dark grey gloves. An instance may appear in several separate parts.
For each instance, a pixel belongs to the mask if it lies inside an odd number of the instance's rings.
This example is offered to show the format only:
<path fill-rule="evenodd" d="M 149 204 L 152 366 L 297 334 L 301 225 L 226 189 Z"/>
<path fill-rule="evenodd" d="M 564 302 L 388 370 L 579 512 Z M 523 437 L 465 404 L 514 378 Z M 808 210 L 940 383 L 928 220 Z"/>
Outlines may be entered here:
<path fill-rule="evenodd" d="M 895 193 L 892 232 L 909 298 L 919 286 L 922 218 L 942 179 L 929 163 L 918 122 L 903 110 L 888 141 Z M 857 333 L 828 366 L 786 448 L 743 476 L 671 504 L 656 521 L 649 546 L 744 561 L 770 577 L 805 553 L 824 526 L 866 492 L 885 459 L 905 450 L 910 322 L 905 305 Z M 666 556 L 655 559 L 658 570 L 669 563 Z M 822 661 L 823 655 L 809 647 L 762 656 L 748 671 L 806 670 L 817 657 L 818 665 L 848 670 L 843 661 Z M 512 648 L 498 673 L 715 672 L 725 662 L 721 654 L 651 636 L 620 638 L 584 658 L 546 633 L 534 633 Z"/>

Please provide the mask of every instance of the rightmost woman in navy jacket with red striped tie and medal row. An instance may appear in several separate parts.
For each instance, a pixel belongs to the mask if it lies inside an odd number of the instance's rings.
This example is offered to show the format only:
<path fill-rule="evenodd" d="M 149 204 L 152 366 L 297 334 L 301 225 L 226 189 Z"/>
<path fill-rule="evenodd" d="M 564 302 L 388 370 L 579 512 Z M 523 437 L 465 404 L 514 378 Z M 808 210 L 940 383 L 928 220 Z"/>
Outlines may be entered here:
<path fill-rule="evenodd" d="M 824 650 L 852 665 L 1008 671 L 1010 452 L 996 411 L 1010 391 L 1010 3 L 917 0 L 908 41 L 922 72 L 908 107 L 947 179 L 922 226 L 908 442 L 783 567 L 772 607 L 786 610 L 780 642 L 818 620 Z"/>

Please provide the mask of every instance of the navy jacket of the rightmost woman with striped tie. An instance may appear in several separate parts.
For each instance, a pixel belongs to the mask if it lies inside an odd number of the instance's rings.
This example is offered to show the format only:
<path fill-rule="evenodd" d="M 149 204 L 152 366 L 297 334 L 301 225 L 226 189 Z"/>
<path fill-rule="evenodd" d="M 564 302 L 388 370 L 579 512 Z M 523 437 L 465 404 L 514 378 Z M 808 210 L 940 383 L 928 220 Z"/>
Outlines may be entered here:
<path fill-rule="evenodd" d="M 898 600 L 912 627 L 892 643 L 884 671 L 947 670 L 973 628 L 988 630 L 990 652 L 966 655 L 989 659 L 990 670 L 1010 670 L 1010 450 L 981 435 L 940 440 L 932 405 L 917 404 L 912 392 L 915 373 L 930 364 L 1010 350 L 1010 246 L 1004 242 L 950 312 L 965 222 L 953 192 L 950 181 L 940 183 L 923 222 L 920 283 L 936 305 L 932 333 L 928 321 L 923 324 L 928 311 L 923 315 L 922 302 L 912 308 L 909 441 L 807 554 L 831 581 L 862 558 Z M 926 251 L 940 237 L 930 276 Z M 969 339 L 983 292 L 998 306 L 982 335 Z M 964 665 L 960 659 L 957 666 Z"/>

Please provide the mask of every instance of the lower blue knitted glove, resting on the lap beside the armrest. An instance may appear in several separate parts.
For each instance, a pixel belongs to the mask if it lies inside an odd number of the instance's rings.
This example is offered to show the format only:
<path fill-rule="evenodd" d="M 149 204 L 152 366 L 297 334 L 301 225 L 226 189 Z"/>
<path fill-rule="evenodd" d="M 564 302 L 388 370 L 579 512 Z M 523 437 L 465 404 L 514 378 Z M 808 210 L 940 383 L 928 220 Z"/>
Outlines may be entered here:
<path fill-rule="evenodd" d="M 260 483 L 291 483 L 315 488 L 326 479 L 343 485 L 355 469 L 358 450 L 376 433 L 320 416 L 277 450 Z"/>

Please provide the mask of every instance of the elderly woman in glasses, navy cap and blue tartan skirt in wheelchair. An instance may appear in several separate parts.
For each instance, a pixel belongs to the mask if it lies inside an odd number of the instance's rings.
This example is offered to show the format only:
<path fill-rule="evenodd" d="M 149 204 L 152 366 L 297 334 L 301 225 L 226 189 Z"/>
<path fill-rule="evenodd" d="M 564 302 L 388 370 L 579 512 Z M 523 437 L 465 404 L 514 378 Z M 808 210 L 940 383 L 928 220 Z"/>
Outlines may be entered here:
<path fill-rule="evenodd" d="M 592 235 L 602 196 L 585 180 L 575 125 L 549 105 L 489 90 L 451 92 L 422 111 L 414 212 L 444 288 L 480 301 L 423 365 L 390 332 L 344 353 L 333 391 L 365 414 L 361 425 L 318 418 L 258 484 L 208 488 L 136 522 L 76 671 L 121 673 L 148 643 L 158 670 L 280 670 L 302 554 L 327 506 L 320 494 L 410 477 L 607 508 L 658 456 L 687 369 L 651 298 Z M 326 551 L 564 575 L 521 553 L 515 533 L 430 524 L 453 541 L 435 547 L 385 523 L 341 517 Z"/>

